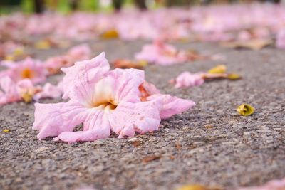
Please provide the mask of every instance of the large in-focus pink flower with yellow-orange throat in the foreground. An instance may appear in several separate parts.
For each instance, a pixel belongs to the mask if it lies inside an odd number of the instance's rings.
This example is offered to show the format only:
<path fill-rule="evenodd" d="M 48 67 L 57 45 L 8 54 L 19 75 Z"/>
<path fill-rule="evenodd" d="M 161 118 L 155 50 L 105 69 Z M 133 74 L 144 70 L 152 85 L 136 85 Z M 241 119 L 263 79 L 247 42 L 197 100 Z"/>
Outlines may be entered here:
<path fill-rule="evenodd" d="M 54 140 L 93 141 L 108 137 L 110 130 L 119 138 L 157 130 L 163 109 L 162 98 L 140 100 L 143 71 L 109 69 L 105 53 L 62 68 L 66 73 L 63 98 L 71 100 L 35 104 L 33 129 L 40 131 L 38 138 L 58 136 Z M 81 123 L 83 131 L 73 132 L 73 128 Z"/>

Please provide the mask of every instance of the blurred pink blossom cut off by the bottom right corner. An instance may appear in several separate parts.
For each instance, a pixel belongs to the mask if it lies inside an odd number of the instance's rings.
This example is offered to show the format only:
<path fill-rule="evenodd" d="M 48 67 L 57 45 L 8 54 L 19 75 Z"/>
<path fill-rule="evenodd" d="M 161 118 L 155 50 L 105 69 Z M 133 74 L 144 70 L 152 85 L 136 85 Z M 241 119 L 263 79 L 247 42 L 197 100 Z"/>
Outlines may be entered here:
<path fill-rule="evenodd" d="M 285 178 L 284 179 L 274 179 L 267 182 L 263 186 L 251 186 L 251 187 L 241 187 L 237 190 L 281 190 L 285 189 Z"/>

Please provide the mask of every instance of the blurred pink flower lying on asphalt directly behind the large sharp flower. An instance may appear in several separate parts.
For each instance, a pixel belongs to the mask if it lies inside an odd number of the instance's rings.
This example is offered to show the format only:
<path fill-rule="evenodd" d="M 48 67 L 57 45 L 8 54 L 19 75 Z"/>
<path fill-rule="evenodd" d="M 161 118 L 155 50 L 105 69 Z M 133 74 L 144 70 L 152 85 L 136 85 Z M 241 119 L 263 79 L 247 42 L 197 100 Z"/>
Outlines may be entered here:
<path fill-rule="evenodd" d="M 135 54 L 135 59 L 160 65 L 171 65 L 185 62 L 187 55 L 182 51 L 177 51 L 174 46 L 155 41 L 152 44 L 143 46 L 142 51 Z"/>

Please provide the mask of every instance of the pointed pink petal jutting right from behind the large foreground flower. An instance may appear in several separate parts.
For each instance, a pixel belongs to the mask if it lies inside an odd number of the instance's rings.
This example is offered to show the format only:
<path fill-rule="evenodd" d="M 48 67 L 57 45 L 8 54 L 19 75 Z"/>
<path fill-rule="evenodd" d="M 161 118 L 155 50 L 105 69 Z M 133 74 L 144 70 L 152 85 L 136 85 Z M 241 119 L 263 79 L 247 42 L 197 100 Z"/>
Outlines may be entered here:
<path fill-rule="evenodd" d="M 171 117 L 180 112 L 185 112 L 191 107 L 195 106 L 195 102 L 192 100 L 184 100 L 178 97 L 172 97 L 171 95 L 155 94 L 147 97 L 147 100 L 161 100 L 163 107 L 160 111 L 161 119 Z"/>

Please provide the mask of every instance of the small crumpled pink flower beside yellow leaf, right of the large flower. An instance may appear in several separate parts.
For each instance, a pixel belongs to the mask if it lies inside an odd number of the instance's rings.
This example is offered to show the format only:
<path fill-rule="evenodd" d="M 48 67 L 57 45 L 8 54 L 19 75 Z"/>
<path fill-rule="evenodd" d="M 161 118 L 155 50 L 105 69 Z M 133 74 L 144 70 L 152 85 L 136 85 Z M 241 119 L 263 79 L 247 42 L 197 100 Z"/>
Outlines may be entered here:
<path fill-rule="evenodd" d="M 175 88 L 181 88 L 184 86 L 195 86 L 202 85 L 204 83 L 204 79 L 202 78 L 203 73 L 189 73 L 183 72 L 177 76 L 175 80 L 170 80 L 170 83 L 174 82 Z"/>

